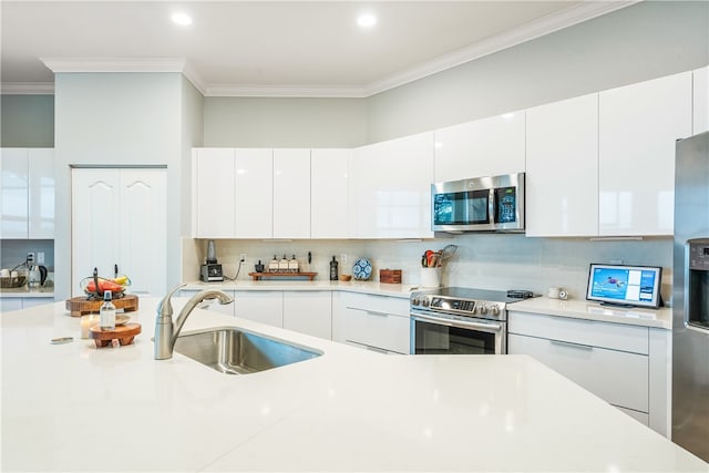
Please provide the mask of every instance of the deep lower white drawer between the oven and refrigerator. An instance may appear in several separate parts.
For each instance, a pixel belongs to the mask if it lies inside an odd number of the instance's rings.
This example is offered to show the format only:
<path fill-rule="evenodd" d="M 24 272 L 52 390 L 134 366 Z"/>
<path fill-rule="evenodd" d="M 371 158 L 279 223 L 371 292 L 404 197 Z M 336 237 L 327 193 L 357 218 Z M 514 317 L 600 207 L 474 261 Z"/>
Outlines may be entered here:
<path fill-rule="evenodd" d="M 648 412 L 648 357 L 510 335 L 510 354 L 530 354 L 605 401 Z"/>

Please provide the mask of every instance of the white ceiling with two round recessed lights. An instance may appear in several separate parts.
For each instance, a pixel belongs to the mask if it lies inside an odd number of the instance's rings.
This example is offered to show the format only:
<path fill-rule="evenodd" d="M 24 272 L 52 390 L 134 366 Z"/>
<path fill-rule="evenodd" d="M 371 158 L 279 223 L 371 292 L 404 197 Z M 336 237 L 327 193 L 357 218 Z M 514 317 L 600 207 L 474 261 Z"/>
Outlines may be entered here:
<path fill-rule="evenodd" d="M 0 81 L 41 92 L 48 65 L 178 70 L 205 95 L 368 96 L 633 3 L 0 0 Z M 193 24 L 173 24 L 177 10 Z"/>

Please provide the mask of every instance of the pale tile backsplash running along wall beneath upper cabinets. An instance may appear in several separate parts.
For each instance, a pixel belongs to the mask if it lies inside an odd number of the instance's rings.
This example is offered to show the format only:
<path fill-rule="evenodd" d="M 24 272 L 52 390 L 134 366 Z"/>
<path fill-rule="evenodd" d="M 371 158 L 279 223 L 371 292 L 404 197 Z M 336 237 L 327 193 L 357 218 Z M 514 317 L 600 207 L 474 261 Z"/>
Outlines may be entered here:
<path fill-rule="evenodd" d="M 216 240 L 217 260 L 225 276 L 237 274 L 239 257 L 246 260 L 238 273 L 239 280 L 249 279 L 248 273 L 260 259 L 268 261 L 276 255 L 290 258 L 296 255 L 301 271 L 316 271 L 318 280 L 327 280 L 332 256 L 339 261 L 340 274 L 351 274 L 357 258 L 369 258 L 374 268 L 401 269 L 402 282 L 420 282 L 421 255 L 427 249 L 442 249 L 454 244 L 458 250 L 442 268 L 442 284 L 481 289 L 528 289 L 545 292 L 548 287 L 563 287 L 573 298 L 585 298 L 588 265 L 590 263 L 621 263 L 662 267 L 661 294 L 666 302 L 671 296 L 672 239 L 670 237 L 643 240 L 589 240 L 588 238 L 527 238 L 518 234 L 465 234 L 430 240 Z M 183 245 L 185 280 L 199 277 L 198 263 L 206 256 L 207 240 L 186 239 Z M 193 253 L 197 253 L 196 257 Z M 308 251 L 312 255 L 310 267 Z M 347 256 L 347 263 L 341 256 Z M 191 275 L 193 275 L 191 277 Z"/>

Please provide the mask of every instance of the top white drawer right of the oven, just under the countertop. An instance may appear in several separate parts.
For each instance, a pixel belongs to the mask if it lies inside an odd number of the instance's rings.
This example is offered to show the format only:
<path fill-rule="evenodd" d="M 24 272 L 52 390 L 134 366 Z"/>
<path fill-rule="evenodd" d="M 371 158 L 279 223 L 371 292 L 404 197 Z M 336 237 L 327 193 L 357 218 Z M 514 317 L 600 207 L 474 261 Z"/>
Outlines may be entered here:
<path fill-rule="evenodd" d="M 511 311 L 507 331 L 633 353 L 649 352 L 647 327 Z"/>

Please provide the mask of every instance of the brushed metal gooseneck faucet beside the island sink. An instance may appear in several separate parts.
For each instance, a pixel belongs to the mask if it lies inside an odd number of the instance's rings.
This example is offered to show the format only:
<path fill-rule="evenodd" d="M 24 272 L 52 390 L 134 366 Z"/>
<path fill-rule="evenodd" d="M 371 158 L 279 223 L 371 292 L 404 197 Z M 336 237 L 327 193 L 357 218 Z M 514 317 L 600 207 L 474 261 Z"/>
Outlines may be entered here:
<path fill-rule="evenodd" d="M 197 307 L 197 305 L 207 299 L 217 299 L 219 304 L 230 304 L 234 301 L 234 299 L 220 290 L 203 290 L 194 295 L 187 304 L 185 304 L 185 307 L 183 307 L 177 315 L 177 320 L 173 323 L 173 306 L 169 299 L 173 294 L 183 286 L 185 286 L 185 284 L 177 285 L 171 289 L 157 306 L 154 347 L 154 358 L 156 360 L 167 360 L 173 357 L 173 348 L 175 347 L 177 336 L 179 335 L 182 327 L 185 325 L 185 320 L 187 320 L 187 317 L 192 313 L 195 307 Z"/>

